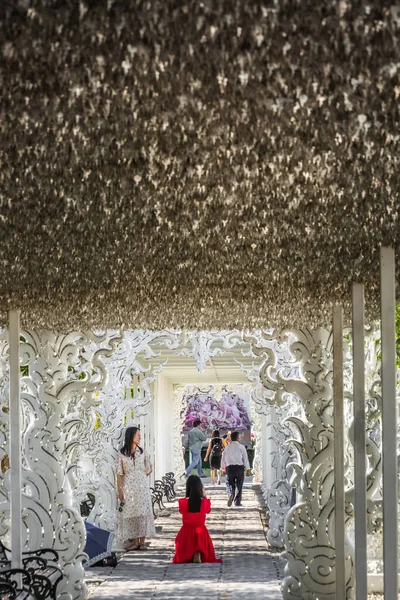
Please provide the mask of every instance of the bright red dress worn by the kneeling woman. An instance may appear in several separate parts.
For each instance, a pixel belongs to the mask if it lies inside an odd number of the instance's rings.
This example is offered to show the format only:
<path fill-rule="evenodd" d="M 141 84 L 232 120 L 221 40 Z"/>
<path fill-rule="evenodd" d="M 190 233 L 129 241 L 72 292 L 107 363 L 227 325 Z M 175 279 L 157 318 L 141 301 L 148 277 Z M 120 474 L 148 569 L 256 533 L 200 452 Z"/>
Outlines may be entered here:
<path fill-rule="evenodd" d="M 209 498 L 203 498 L 198 513 L 190 513 L 188 498 L 181 498 L 179 512 L 182 514 L 182 527 L 175 538 L 175 556 L 172 562 L 192 562 L 195 552 L 201 553 L 201 562 L 222 562 L 215 556 L 214 546 L 205 525 L 206 515 L 211 512 Z"/>

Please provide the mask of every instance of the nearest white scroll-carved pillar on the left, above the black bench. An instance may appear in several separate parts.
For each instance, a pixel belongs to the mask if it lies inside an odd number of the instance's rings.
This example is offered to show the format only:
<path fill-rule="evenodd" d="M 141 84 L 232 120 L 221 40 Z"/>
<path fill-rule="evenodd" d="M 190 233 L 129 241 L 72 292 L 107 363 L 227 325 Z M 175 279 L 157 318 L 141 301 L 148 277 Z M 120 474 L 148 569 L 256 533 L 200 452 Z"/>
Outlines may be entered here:
<path fill-rule="evenodd" d="M 61 600 L 83 600 L 82 567 L 85 527 L 73 509 L 67 478 L 72 466 L 81 420 L 76 405 L 90 403 L 89 378 L 71 380 L 68 368 L 79 362 L 79 333 L 23 332 L 21 354 L 29 376 L 23 379 L 25 414 L 23 439 L 23 517 L 29 530 L 29 545 L 55 547 L 64 578 L 59 584 Z"/>

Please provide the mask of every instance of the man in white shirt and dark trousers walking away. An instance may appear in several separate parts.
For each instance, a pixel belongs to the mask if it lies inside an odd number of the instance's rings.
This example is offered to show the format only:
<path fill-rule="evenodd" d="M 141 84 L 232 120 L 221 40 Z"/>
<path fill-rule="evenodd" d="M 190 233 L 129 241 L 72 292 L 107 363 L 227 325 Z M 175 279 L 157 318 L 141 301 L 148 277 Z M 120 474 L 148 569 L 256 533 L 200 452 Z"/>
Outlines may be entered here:
<path fill-rule="evenodd" d="M 244 469 L 246 469 L 246 475 L 250 475 L 250 463 L 246 448 L 238 442 L 239 432 L 233 431 L 231 439 L 232 442 L 222 453 L 221 468 L 226 471 L 230 488 L 228 506 L 232 506 L 233 501 L 235 501 L 235 506 L 242 506 Z"/>

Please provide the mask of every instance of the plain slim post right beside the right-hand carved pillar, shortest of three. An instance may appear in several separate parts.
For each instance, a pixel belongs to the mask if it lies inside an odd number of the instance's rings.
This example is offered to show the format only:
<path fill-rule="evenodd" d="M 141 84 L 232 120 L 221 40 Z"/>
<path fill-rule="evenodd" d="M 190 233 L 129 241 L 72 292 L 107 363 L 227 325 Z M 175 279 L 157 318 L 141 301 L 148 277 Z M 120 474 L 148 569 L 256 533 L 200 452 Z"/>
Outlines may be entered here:
<path fill-rule="evenodd" d="M 333 309 L 333 415 L 335 477 L 336 600 L 346 598 L 344 514 L 343 308 Z"/>

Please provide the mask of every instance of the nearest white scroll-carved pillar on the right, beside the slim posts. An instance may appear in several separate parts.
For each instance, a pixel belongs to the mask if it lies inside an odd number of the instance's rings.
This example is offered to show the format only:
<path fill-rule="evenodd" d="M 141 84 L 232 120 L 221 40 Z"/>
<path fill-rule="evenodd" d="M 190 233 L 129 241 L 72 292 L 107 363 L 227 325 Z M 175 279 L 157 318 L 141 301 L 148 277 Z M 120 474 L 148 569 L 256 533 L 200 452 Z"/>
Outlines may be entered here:
<path fill-rule="evenodd" d="M 287 560 L 284 600 L 332 600 L 335 596 L 333 408 L 331 332 L 296 331 L 291 352 L 300 360 L 301 381 L 286 389 L 301 402 L 303 417 L 288 420 L 297 430 L 292 440 L 300 464 L 293 464 L 297 503 L 285 520 Z M 348 553 L 351 553 L 347 546 Z M 353 594 L 351 562 L 346 561 L 347 598 Z"/>

